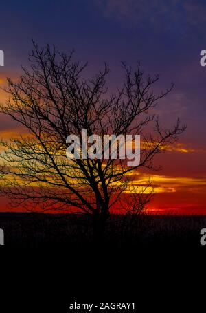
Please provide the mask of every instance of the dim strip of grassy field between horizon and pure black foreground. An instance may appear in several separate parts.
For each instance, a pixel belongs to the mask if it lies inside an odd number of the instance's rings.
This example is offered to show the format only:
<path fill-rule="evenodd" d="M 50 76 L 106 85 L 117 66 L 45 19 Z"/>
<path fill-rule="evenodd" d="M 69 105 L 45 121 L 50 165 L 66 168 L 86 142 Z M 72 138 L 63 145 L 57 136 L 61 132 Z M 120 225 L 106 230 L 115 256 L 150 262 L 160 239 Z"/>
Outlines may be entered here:
<path fill-rule="evenodd" d="M 122 227 L 122 215 L 113 215 L 106 228 L 105 243 L 111 246 L 202 248 L 200 231 L 206 216 L 142 215 Z M 93 231 L 82 216 L 38 213 L 0 213 L 5 246 L 85 246 L 93 244 Z"/>

